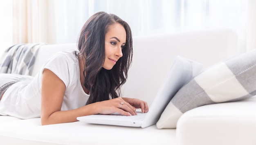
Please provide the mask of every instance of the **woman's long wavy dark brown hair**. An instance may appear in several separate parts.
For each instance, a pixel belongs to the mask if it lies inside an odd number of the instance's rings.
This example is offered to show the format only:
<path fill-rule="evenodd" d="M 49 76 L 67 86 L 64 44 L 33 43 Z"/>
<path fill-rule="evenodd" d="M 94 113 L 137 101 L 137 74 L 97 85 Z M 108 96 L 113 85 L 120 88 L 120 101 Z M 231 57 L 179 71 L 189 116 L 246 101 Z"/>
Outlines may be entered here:
<path fill-rule="evenodd" d="M 105 60 L 105 35 L 111 24 L 119 23 L 126 30 L 123 56 L 111 70 L 102 66 Z M 130 26 L 114 14 L 98 12 L 85 22 L 78 40 L 79 56 L 85 61 L 84 86 L 90 91 L 87 104 L 119 97 L 132 63 L 132 32 Z"/>

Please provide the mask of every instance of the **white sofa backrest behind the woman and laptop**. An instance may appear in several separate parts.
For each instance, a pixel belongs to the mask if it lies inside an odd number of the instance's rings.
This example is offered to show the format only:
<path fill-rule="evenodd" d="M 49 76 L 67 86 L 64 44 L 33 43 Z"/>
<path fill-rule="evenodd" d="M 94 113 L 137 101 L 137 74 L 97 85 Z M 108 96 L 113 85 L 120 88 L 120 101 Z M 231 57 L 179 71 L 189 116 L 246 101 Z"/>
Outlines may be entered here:
<path fill-rule="evenodd" d="M 150 105 L 175 56 L 180 55 L 209 67 L 238 54 L 237 36 L 230 29 L 206 29 L 133 38 L 132 66 L 122 87 L 124 97 L 136 97 Z M 76 50 L 76 43 L 43 45 L 36 56 L 32 76 L 54 53 Z"/>

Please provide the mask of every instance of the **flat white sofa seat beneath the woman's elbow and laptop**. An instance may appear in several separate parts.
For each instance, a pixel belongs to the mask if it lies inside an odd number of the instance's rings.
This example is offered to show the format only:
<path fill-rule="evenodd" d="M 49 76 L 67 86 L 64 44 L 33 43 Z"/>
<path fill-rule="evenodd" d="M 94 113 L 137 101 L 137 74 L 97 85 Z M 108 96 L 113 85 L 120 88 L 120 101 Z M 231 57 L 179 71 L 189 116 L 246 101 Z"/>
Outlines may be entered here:
<path fill-rule="evenodd" d="M 175 129 L 132 128 L 81 121 L 41 126 L 40 118 L 0 123 L 3 145 L 175 145 Z"/>

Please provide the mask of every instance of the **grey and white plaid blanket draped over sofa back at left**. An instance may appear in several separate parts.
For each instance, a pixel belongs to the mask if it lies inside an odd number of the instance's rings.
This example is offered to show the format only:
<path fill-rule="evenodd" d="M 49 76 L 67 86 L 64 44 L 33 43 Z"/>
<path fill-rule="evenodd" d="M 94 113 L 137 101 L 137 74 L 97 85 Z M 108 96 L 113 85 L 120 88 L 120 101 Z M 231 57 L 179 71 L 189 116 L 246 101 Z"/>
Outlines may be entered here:
<path fill-rule="evenodd" d="M 45 43 L 16 44 L 0 58 L 0 73 L 31 76 L 38 48 Z"/>

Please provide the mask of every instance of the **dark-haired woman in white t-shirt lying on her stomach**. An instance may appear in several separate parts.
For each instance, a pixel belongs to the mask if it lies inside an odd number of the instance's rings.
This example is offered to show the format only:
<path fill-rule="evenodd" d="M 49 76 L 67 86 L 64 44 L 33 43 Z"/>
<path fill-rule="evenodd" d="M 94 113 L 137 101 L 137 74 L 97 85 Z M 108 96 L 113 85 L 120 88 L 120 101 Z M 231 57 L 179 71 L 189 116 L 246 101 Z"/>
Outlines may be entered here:
<path fill-rule="evenodd" d="M 41 117 L 47 125 L 99 113 L 136 115 L 136 108 L 148 112 L 146 102 L 119 97 L 132 61 L 126 22 L 105 12 L 92 15 L 81 30 L 78 49 L 55 54 L 35 78 L 22 76 L 2 89 L 0 115 Z"/>

